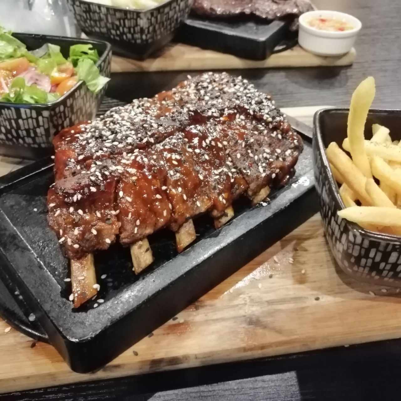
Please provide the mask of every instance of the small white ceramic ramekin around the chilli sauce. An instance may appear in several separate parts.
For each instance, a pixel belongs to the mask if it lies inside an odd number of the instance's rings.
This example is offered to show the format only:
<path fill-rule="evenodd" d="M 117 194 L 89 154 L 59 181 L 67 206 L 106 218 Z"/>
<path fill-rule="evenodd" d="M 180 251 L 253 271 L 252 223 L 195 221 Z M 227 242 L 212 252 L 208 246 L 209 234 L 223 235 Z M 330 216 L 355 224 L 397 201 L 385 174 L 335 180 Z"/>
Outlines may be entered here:
<path fill-rule="evenodd" d="M 308 24 L 312 18 L 335 18 L 347 22 L 354 28 L 342 32 L 320 30 Z M 339 56 L 352 49 L 360 28 L 362 28 L 360 20 L 344 12 L 308 11 L 299 18 L 298 43 L 305 50 L 320 56 Z"/>

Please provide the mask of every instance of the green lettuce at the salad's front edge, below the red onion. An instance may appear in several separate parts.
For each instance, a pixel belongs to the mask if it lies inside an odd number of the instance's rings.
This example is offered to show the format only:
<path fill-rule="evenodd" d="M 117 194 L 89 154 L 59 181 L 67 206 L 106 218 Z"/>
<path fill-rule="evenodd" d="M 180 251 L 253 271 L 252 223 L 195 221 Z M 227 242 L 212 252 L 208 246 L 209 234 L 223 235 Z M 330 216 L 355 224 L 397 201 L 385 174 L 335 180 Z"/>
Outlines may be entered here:
<path fill-rule="evenodd" d="M 25 79 L 17 77 L 12 80 L 10 91 L 5 93 L 0 101 L 10 103 L 51 103 L 59 98 L 57 93 L 47 93 L 36 85 L 26 85 Z"/>

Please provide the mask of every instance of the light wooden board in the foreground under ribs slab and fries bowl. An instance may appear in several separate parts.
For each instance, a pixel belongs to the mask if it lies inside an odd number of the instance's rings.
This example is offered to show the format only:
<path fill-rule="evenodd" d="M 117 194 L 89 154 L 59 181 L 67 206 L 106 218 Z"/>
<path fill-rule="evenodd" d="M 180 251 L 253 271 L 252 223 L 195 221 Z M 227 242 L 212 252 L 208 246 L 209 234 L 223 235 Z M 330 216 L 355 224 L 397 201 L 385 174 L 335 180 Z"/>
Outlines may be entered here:
<path fill-rule="evenodd" d="M 318 108 L 283 111 L 311 124 Z M 399 338 L 388 294 L 336 267 L 315 215 L 96 373 L 0 320 L 0 393 Z"/>

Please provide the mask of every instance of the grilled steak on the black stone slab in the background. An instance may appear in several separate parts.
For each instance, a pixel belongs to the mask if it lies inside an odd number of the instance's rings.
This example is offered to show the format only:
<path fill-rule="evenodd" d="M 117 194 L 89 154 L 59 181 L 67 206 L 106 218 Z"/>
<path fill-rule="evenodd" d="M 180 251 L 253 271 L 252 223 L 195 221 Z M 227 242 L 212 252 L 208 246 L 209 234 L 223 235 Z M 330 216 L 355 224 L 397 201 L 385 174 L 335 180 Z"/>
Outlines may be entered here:
<path fill-rule="evenodd" d="M 194 0 L 192 6 L 192 12 L 201 16 L 255 15 L 269 20 L 300 16 L 313 9 L 309 0 Z"/>

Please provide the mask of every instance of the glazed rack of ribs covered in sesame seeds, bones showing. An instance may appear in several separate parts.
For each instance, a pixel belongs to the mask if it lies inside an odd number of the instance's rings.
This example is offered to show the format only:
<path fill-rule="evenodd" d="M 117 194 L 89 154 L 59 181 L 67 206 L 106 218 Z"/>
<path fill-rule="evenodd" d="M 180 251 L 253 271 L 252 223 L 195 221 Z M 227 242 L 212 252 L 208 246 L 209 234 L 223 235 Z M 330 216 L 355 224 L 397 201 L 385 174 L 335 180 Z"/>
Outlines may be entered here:
<path fill-rule="evenodd" d="M 284 186 L 303 145 L 269 95 L 204 73 L 63 130 L 54 146 L 48 220 L 71 259 L 78 307 L 99 288 L 94 251 L 129 245 L 140 273 L 153 261 L 148 235 L 171 229 L 181 252 L 196 238 L 194 217 L 219 228 L 239 196 L 256 204 Z"/>

